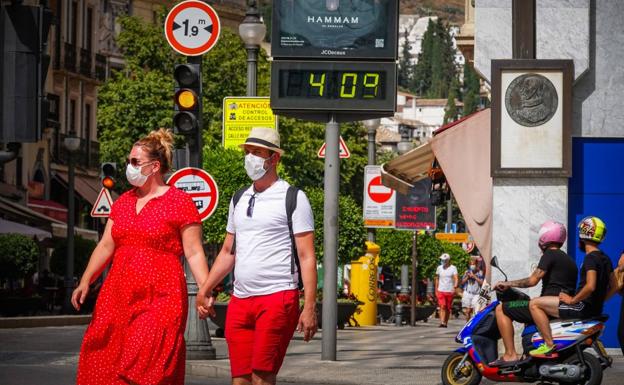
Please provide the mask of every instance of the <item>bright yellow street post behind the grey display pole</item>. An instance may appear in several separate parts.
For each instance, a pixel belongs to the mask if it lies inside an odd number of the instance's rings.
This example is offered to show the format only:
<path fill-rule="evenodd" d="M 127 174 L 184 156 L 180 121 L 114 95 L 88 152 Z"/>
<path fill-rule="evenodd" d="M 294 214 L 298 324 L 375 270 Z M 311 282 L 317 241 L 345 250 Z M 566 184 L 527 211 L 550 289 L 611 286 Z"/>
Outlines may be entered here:
<path fill-rule="evenodd" d="M 366 255 L 351 261 L 351 293 L 364 304 L 353 315 L 361 326 L 377 324 L 377 262 L 379 245 L 366 242 Z"/>

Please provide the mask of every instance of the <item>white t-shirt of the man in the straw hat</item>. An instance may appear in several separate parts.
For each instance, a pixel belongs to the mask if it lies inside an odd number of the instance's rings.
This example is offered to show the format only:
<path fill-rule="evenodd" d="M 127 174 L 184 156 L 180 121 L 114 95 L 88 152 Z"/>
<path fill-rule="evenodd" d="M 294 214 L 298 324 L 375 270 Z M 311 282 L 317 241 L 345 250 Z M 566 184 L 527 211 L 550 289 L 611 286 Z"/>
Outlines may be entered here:
<path fill-rule="evenodd" d="M 250 186 L 234 208 L 230 200 L 227 232 L 236 236 L 234 295 L 246 298 L 296 289 L 298 272 L 291 274 L 291 241 L 286 217 L 289 184 L 281 179 L 256 193 L 253 215 L 247 216 Z M 293 233 L 314 231 L 310 202 L 303 191 L 297 194 L 293 212 Z"/>

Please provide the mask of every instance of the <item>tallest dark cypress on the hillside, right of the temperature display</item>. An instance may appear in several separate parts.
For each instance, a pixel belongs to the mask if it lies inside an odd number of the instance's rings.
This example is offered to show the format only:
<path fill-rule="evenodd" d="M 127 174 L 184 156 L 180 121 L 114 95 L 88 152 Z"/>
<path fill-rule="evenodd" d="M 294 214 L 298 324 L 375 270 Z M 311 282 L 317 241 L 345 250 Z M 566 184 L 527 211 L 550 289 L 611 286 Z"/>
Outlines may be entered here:
<path fill-rule="evenodd" d="M 441 19 L 430 19 L 414 69 L 412 90 L 429 99 L 446 98 L 456 77 L 455 49 L 449 29 Z"/>

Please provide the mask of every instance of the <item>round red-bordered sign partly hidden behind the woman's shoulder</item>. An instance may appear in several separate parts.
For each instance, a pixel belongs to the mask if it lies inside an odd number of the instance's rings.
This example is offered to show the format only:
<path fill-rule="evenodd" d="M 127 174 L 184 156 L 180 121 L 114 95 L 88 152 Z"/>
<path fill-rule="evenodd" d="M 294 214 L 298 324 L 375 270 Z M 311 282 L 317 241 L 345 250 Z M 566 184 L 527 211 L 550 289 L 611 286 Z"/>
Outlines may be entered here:
<path fill-rule="evenodd" d="M 219 190 L 214 178 L 206 171 L 194 167 L 183 168 L 171 175 L 167 184 L 193 198 L 202 221 L 215 212 L 219 203 Z"/>

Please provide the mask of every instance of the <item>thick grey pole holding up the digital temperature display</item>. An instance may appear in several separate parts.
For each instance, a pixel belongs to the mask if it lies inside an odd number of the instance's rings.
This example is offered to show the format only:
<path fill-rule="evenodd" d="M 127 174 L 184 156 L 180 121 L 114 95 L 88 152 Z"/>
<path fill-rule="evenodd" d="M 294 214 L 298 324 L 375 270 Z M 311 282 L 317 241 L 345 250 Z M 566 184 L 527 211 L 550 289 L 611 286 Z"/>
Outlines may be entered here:
<path fill-rule="evenodd" d="M 325 127 L 325 204 L 323 212 L 323 341 L 321 360 L 336 361 L 337 260 L 338 260 L 338 187 L 340 185 L 339 156 L 340 124 L 334 115 Z"/>

